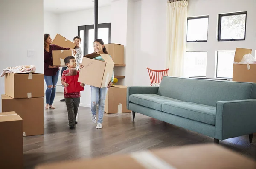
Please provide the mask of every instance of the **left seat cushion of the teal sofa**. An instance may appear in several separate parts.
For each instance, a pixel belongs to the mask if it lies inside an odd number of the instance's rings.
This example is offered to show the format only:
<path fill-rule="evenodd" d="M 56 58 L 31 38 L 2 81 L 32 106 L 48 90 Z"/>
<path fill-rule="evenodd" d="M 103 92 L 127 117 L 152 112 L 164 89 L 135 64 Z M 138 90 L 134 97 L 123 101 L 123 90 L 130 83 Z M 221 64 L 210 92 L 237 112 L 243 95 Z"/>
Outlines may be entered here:
<path fill-rule="evenodd" d="M 163 103 L 170 101 L 178 102 L 180 100 L 159 96 L 157 94 L 132 94 L 129 97 L 129 101 L 141 106 L 162 111 Z"/>

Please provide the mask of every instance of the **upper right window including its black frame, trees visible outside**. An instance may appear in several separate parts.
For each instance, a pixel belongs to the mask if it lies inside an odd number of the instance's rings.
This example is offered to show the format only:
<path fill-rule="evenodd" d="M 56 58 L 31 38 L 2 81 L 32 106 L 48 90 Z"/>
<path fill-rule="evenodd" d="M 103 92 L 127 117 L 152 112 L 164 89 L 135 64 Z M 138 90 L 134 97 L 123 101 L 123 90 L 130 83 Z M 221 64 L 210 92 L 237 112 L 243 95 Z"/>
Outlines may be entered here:
<path fill-rule="evenodd" d="M 245 40 L 247 12 L 219 14 L 218 41 Z"/>

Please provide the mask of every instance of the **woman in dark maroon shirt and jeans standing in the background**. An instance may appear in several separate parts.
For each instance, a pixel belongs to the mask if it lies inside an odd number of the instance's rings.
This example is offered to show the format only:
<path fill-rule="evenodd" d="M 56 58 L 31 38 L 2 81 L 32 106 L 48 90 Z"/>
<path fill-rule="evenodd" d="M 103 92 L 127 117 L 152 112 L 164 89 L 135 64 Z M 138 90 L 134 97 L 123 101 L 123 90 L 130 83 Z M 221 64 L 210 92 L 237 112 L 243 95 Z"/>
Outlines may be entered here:
<path fill-rule="evenodd" d="M 49 34 L 44 34 L 44 80 L 47 88 L 45 91 L 46 106 L 45 109 L 55 109 L 52 105 L 56 93 L 56 84 L 58 82 L 59 68 L 53 66 L 52 51 L 54 50 L 72 50 L 76 54 L 75 49 L 62 48 L 52 44 L 52 38 Z"/>

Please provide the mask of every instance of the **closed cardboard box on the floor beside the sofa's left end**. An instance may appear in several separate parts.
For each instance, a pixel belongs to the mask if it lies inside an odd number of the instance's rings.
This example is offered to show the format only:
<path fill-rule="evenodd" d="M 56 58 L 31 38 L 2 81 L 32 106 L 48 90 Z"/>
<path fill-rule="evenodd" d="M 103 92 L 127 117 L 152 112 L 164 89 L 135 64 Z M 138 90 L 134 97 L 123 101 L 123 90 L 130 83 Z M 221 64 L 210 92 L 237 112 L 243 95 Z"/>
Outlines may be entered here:
<path fill-rule="evenodd" d="M 113 86 L 108 89 L 105 99 L 106 113 L 128 113 L 126 109 L 127 86 Z"/>

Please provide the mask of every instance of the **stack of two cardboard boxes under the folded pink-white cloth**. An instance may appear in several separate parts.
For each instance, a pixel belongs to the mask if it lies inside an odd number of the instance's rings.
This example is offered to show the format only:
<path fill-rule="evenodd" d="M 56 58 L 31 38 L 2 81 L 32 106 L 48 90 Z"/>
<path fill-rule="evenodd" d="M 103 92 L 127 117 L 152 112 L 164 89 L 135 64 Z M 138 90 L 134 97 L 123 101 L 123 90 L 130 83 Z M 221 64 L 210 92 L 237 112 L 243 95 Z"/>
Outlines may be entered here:
<path fill-rule="evenodd" d="M 15 111 L 23 119 L 23 136 L 44 134 L 44 74 L 8 73 L 2 112 Z"/>

